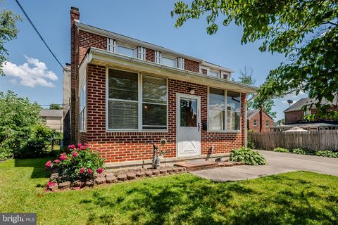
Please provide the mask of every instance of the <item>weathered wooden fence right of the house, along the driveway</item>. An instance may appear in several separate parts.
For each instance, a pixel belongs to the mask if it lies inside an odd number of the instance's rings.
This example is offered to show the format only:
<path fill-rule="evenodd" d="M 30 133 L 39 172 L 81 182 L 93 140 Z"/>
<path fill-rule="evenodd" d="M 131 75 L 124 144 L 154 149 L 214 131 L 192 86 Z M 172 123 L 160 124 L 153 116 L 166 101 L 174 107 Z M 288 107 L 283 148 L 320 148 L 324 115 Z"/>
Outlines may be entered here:
<path fill-rule="evenodd" d="M 338 150 L 338 130 L 308 132 L 249 133 L 248 139 L 256 148 L 273 150 L 282 148 L 306 148 L 310 150 Z"/>

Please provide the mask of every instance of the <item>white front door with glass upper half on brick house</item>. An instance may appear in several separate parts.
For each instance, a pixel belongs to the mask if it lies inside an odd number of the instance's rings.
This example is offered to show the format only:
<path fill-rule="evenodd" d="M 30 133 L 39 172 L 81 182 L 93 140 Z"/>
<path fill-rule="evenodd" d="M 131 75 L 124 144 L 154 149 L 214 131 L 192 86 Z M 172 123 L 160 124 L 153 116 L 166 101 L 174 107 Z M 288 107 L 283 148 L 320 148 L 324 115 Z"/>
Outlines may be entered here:
<path fill-rule="evenodd" d="M 177 157 L 201 155 L 200 99 L 177 94 Z"/>

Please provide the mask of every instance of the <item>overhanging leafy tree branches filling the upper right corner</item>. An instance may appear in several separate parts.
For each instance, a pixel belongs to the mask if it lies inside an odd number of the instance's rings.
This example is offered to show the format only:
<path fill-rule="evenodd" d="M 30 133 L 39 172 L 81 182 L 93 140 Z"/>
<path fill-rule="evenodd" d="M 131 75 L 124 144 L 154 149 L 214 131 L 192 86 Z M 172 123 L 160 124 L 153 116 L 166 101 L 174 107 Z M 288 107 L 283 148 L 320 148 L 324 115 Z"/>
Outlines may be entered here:
<path fill-rule="evenodd" d="M 177 1 L 171 12 L 175 27 L 208 13 L 208 34 L 216 19 L 244 28 L 242 44 L 262 41 L 260 51 L 282 53 L 287 61 L 271 70 L 260 87 L 260 101 L 285 94 L 308 93 L 316 98 L 316 115 L 338 117 L 332 110 L 338 90 L 338 2 L 332 0 L 193 0 Z M 322 105 L 326 98 L 330 105 Z M 307 106 L 309 107 L 309 105 Z"/>

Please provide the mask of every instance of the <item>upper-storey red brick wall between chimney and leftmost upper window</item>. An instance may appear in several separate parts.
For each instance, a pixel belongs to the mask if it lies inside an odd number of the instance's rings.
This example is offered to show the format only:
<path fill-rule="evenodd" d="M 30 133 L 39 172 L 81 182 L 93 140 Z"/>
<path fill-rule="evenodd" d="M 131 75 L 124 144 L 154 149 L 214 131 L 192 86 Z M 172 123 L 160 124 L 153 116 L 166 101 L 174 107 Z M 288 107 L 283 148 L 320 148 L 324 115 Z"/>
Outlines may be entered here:
<path fill-rule="evenodd" d="M 89 47 L 107 50 L 107 38 L 106 37 L 103 37 L 97 34 L 92 34 L 89 32 L 85 32 L 83 30 L 79 31 L 79 43 L 80 43 L 80 47 L 79 47 L 80 63 L 83 57 L 86 55 Z"/>

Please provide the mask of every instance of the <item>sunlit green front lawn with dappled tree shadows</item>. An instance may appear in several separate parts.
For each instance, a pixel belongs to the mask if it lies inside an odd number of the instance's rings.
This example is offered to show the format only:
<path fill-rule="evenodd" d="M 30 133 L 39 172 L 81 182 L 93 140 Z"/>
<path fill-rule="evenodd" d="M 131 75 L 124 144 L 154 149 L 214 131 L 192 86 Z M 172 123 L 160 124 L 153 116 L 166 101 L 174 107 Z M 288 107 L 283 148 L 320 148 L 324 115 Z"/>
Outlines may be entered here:
<path fill-rule="evenodd" d="M 338 224 L 336 176 L 216 183 L 179 174 L 44 193 L 46 160 L 0 163 L 0 212 L 36 212 L 38 224 Z"/>

